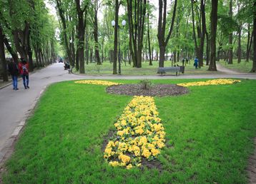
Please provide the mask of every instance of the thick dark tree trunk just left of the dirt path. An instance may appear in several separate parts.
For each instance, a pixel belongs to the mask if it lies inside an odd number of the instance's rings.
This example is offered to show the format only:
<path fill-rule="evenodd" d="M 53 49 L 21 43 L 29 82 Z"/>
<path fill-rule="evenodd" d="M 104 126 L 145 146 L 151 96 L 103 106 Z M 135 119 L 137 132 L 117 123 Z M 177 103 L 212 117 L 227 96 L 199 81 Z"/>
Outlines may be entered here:
<path fill-rule="evenodd" d="M 212 1 L 212 11 L 211 11 L 211 58 L 210 66 L 208 71 L 217 71 L 216 68 L 216 33 L 217 33 L 217 8 L 218 0 Z"/>

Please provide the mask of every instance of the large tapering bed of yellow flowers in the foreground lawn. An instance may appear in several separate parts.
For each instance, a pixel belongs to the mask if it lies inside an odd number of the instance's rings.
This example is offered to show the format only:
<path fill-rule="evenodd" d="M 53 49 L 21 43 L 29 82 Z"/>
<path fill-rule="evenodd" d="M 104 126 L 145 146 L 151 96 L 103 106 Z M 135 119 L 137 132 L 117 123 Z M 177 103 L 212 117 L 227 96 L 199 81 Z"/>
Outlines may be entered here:
<path fill-rule="evenodd" d="M 112 166 L 139 167 L 142 156 L 156 158 L 164 147 L 165 132 L 154 98 L 134 96 L 117 123 L 116 138 L 109 140 L 104 158 Z"/>

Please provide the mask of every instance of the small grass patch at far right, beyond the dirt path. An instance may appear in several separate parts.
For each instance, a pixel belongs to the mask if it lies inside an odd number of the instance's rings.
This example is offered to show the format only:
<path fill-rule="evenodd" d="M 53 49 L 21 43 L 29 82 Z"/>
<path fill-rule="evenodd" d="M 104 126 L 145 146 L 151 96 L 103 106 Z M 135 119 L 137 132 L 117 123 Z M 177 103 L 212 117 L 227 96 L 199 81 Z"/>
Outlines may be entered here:
<path fill-rule="evenodd" d="M 252 69 L 252 61 L 245 62 L 244 59 L 242 59 L 241 63 L 237 63 L 237 59 L 233 59 L 233 64 L 227 64 L 224 60 L 220 61 L 220 64 L 222 66 L 225 66 L 225 68 L 230 68 L 234 71 L 240 71 L 240 72 L 250 72 Z"/>

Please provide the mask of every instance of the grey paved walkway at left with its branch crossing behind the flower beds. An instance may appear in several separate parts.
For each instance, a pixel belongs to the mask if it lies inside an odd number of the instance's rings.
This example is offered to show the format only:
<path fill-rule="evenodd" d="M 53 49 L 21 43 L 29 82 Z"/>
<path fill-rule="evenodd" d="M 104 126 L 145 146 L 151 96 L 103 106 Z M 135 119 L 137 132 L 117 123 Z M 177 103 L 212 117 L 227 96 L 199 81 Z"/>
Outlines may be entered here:
<path fill-rule="evenodd" d="M 223 70 L 223 68 L 218 68 Z M 200 76 L 79 76 L 68 74 L 63 70 L 62 63 L 54 63 L 29 76 L 29 89 L 24 89 L 19 81 L 19 91 L 12 90 L 12 86 L 7 86 L 0 90 L 0 165 L 1 160 L 5 160 L 4 155 L 11 153 L 11 145 L 23 128 L 29 112 L 36 105 L 36 101 L 43 93 L 44 88 L 50 83 L 77 79 L 177 79 L 177 78 L 250 78 L 256 79 L 255 74 L 230 73 L 225 70 L 222 75 L 200 75 Z M 7 154 L 6 154 L 7 153 Z"/>

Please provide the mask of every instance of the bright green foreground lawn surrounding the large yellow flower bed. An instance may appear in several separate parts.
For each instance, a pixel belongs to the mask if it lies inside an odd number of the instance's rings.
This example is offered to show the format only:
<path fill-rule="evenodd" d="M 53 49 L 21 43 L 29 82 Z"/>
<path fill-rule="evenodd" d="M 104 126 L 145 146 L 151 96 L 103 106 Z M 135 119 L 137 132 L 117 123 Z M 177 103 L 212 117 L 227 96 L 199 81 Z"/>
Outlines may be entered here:
<path fill-rule="evenodd" d="M 203 80 L 152 82 L 184 81 Z M 73 81 L 51 85 L 6 162 L 4 183 L 247 183 L 256 81 L 192 86 L 183 96 L 154 98 L 167 133 L 161 171 L 104 162 L 104 137 L 132 99 L 105 88 Z"/>

